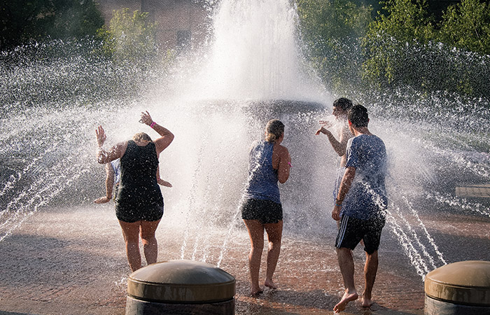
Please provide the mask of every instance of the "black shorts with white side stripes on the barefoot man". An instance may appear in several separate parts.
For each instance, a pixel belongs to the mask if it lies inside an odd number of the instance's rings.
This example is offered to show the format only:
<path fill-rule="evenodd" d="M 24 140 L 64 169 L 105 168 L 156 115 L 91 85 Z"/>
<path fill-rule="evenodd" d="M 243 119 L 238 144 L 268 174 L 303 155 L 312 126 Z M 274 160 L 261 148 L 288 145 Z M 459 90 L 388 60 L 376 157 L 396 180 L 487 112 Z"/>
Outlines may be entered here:
<path fill-rule="evenodd" d="M 368 254 L 374 253 L 379 248 L 381 230 L 385 223 L 384 218 L 373 218 L 360 220 L 343 215 L 340 219 L 339 232 L 335 240 L 335 247 L 356 248 L 359 241 L 364 241 L 364 251 Z"/>

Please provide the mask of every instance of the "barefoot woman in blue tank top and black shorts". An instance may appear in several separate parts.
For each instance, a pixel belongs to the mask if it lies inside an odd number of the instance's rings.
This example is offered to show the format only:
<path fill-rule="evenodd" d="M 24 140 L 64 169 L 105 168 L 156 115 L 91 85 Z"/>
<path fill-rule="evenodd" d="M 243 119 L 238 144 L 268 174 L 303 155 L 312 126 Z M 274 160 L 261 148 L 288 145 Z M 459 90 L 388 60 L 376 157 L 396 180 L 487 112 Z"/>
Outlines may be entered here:
<path fill-rule="evenodd" d="M 248 268 L 252 296 L 262 293 L 258 276 L 264 248 L 264 230 L 269 240 L 264 285 L 277 288 L 272 281 L 272 276 L 279 260 L 283 228 L 282 205 L 277 181 L 286 183 L 291 166 L 288 149 L 281 146 L 283 139 L 284 124 L 280 120 L 270 120 L 265 128 L 265 140 L 256 141 L 248 157 L 248 183 L 244 202 L 241 205 L 241 218 L 244 220 L 251 241 Z"/>

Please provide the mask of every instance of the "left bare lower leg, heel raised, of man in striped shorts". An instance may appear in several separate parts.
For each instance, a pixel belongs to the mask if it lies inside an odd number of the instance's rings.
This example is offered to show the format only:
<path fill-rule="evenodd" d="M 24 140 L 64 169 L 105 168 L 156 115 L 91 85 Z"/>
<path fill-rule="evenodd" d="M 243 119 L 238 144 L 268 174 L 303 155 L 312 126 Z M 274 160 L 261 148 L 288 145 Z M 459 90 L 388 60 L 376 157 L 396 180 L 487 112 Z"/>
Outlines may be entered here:
<path fill-rule="evenodd" d="M 349 302 L 357 300 L 359 297 L 356 286 L 354 286 L 354 260 L 351 249 L 344 247 L 337 248 L 337 258 L 339 260 L 340 272 L 342 272 L 342 278 L 344 279 L 345 293 L 342 296 L 342 300 L 333 308 L 335 313 L 343 311 Z"/>

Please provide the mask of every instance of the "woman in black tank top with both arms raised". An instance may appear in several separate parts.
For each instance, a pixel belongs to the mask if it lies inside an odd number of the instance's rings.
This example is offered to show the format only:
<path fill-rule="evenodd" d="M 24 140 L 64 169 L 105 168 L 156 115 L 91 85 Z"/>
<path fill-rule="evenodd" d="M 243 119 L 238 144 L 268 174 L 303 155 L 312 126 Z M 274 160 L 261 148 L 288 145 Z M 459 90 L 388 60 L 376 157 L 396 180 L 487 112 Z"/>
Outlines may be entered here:
<path fill-rule="evenodd" d="M 106 164 L 120 158 L 120 183 L 116 200 L 118 218 L 126 243 L 127 261 L 131 270 L 141 268 L 139 236 L 148 265 L 157 262 L 158 244 L 155 231 L 163 216 L 163 197 L 157 183 L 158 157 L 174 140 L 174 134 L 155 123 L 148 111 L 141 112 L 140 123 L 149 125 L 160 138 L 152 141 L 148 134 L 134 134 L 132 140 L 120 142 L 105 151 L 104 128 L 97 135 L 97 162 Z"/>

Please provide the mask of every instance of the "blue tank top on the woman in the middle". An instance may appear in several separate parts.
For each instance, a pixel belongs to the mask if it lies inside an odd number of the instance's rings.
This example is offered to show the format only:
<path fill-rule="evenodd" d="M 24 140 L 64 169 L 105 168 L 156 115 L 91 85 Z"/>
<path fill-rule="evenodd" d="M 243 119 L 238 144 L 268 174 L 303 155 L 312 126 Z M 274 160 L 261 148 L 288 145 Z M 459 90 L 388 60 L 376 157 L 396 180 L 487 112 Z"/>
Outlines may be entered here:
<path fill-rule="evenodd" d="M 281 203 L 277 185 L 277 169 L 272 167 L 274 144 L 261 140 L 255 142 L 248 155 L 248 183 L 244 197 L 246 199 L 271 200 Z"/>

